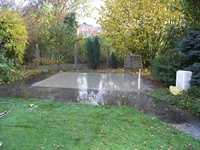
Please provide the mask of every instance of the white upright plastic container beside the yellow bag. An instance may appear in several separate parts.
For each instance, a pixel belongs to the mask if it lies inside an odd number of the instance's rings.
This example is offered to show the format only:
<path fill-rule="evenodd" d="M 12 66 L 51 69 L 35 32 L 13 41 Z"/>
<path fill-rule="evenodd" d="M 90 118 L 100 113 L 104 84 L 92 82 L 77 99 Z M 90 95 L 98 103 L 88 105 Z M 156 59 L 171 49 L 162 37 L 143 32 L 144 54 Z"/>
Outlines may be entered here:
<path fill-rule="evenodd" d="M 176 72 L 176 87 L 187 91 L 190 88 L 191 71 L 178 70 Z"/>

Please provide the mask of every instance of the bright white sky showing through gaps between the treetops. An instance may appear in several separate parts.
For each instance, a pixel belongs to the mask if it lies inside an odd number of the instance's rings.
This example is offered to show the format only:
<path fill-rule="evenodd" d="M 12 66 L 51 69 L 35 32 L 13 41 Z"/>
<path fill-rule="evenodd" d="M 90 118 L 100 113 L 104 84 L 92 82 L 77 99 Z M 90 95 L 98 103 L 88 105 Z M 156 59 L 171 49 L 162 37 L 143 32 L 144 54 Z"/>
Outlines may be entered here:
<path fill-rule="evenodd" d="M 23 0 L 15 0 L 17 3 L 20 3 L 21 1 Z M 99 18 L 99 14 L 98 14 L 98 10 L 100 8 L 100 6 L 103 4 L 102 0 L 93 0 L 92 2 L 92 5 L 96 8 L 94 10 L 94 12 L 92 13 L 92 16 L 91 17 L 84 17 L 84 18 L 80 18 L 78 21 L 79 21 L 79 24 L 82 24 L 82 23 L 87 23 L 87 24 L 90 24 L 90 25 L 93 25 L 93 26 L 100 26 L 99 24 L 96 23 L 97 21 L 97 18 Z"/>

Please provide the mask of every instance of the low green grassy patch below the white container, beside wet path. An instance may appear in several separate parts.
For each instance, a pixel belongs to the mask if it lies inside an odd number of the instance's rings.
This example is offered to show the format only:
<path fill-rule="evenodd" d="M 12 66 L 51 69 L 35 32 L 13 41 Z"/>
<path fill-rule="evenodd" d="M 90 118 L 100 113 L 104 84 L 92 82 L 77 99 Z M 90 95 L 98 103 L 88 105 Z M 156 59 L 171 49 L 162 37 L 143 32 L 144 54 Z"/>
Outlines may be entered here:
<path fill-rule="evenodd" d="M 200 116 L 200 87 L 193 86 L 180 95 L 173 95 L 168 88 L 163 88 L 149 93 L 149 96 L 157 100 L 170 101 L 173 105 L 188 109 Z"/>

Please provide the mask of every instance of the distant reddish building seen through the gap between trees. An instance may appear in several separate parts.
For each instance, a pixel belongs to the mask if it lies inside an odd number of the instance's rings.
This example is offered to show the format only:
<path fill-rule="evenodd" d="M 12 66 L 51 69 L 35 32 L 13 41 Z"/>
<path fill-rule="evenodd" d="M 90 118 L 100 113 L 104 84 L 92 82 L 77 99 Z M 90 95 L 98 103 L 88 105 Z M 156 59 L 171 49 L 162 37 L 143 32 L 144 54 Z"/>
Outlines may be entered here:
<path fill-rule="evenodd" d="M 95 27 L 95 26 L 83 23 L 78 26 L 77 36 L 89 37 L 89 36 L 95 36 L 101 32 L 102 32 L 101 27 Z"/>

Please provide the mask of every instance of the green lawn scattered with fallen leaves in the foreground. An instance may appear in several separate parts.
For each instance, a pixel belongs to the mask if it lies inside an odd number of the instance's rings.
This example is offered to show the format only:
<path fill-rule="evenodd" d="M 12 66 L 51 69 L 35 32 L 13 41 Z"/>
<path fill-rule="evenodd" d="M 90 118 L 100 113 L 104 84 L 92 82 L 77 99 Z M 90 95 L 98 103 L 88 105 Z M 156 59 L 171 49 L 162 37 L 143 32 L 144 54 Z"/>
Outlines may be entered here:
<path fill-rule="evenodd" d="M 129 107 L 0 101 L 15 104 L 0 118 L 1 150 L 200 149 L 199 140 Z M 32 103 L 38 107 L 31 111 Z"/>

